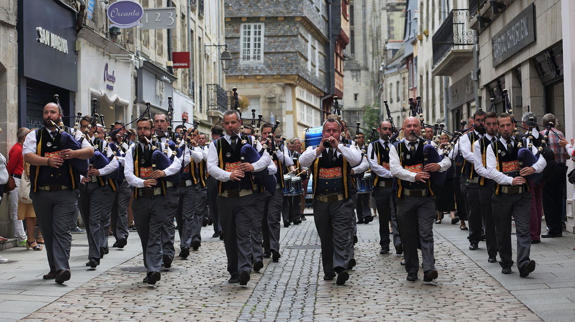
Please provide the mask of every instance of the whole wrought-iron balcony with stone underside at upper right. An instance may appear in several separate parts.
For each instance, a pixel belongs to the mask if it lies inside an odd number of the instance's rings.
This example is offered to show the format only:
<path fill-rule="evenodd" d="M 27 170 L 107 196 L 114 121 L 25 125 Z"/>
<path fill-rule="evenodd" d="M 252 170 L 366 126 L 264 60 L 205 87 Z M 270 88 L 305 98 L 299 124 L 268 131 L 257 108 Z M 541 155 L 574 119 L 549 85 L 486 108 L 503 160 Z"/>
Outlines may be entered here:
<path fill-rule="evenodd" d="M 474 43 L 473 30 L 469 28 L 469 10 L 454 9 L 432 37 L 434 76 L 450 75 L 453 70 L 468 62 Z"/>

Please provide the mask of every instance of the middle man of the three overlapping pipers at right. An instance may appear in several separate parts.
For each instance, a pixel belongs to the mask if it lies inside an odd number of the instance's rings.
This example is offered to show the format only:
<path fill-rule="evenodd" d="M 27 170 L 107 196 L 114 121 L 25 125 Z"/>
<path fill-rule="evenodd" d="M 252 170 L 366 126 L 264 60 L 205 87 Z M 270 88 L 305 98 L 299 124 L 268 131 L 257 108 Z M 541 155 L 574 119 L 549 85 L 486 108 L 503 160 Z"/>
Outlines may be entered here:
<path fill-rule="evenodd" d="M 485 225 L 485 247 L 487 248 L 487 261 L 497 262 L 497 237 L 495 223 L 493 221 L 492 201 L 495 183 L 489 179 L 486 166 L 486 154 L 489 144 L 497 140 L 497 114 L 488 112 L 485 114 L 485 135 L 473 143 L 473 164 L 478 174 L 478 195 L 481 206 L 481 218 Z M 471 227 L 471 224 L 470 224 Z M 540 227 L 539 227 L 540 229 Z"/>

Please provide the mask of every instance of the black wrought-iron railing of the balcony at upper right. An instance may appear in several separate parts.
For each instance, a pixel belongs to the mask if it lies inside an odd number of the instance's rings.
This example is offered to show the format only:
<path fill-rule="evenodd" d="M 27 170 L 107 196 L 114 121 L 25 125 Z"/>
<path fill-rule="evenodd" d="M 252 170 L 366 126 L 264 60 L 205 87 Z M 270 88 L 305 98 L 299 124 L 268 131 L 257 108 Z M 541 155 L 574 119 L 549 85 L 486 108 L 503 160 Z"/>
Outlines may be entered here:
<path fill-rule="evenodd" d="M 469 28 L 469 10 L 451 10 L 433 35 L 432 42 L 434 66 L 454 47 L 463 49 L 465 45 L 473 45 L 473 30 Z"/>

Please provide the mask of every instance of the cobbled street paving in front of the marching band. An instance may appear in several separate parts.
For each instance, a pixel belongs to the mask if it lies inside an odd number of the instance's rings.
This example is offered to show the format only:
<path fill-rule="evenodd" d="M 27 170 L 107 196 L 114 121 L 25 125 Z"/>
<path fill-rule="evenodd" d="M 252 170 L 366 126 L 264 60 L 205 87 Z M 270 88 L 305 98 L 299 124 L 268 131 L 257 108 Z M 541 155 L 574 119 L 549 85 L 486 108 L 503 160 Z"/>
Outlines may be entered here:
<path fill-rule="evenodd" d="M 344 286 L 323 281 L 313 218 L 282 227 L 282 258 L 264 260 L 246 287 L 227 283 L 223 242 L 204 228 L 202 247 L 176 259 L 155 286 L 141 255 L 113 267 L 22 321 L 538 321 L 522 302 L 439 234 L 437 285 L 405 280 L 401 257 L 379 255 L 378 225 L 359 225 L 358 266 Z M 132 246 L 135 247 L 135 246 Z M 519 277 L 516 274 L 516 278 Z M 44 285 L 49 291 L 58 285 Z M 0 303 L 1 304 L 1 303 Z"/>

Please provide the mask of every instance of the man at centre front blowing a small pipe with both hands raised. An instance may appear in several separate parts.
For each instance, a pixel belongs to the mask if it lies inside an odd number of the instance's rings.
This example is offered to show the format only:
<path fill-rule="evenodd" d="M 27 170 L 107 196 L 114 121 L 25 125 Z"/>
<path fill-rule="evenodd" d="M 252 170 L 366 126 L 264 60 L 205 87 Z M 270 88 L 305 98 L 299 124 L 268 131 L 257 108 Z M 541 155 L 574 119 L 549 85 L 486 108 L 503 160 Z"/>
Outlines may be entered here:
<path fill-rule="evenodd" d="M 337 273 L 336 283 L 343 285 L 349 279 L 348 245 L 353 229 L 351 164 L 360 163 L 362 155 L 356 148 L 340 143 L 342 130 L 335 118 L 327 118 L 322 135 L 321 144 L 301 154 L 300 165 L 310 167 L 313 173 L 313 217 L 321 241 L 324 280 L 333 279 Z"/>

